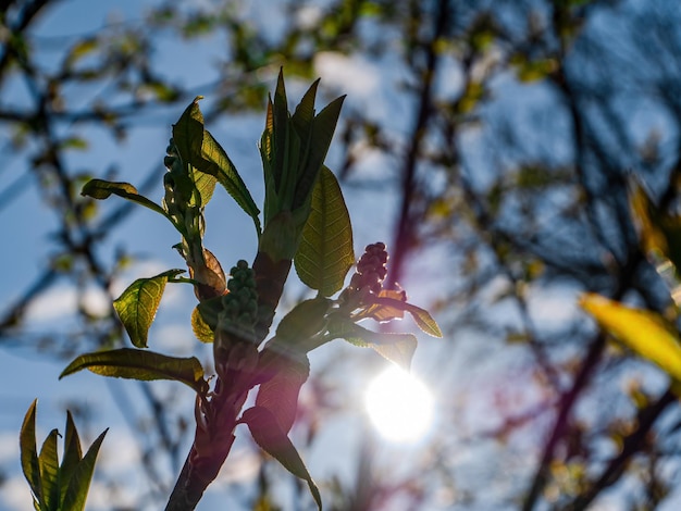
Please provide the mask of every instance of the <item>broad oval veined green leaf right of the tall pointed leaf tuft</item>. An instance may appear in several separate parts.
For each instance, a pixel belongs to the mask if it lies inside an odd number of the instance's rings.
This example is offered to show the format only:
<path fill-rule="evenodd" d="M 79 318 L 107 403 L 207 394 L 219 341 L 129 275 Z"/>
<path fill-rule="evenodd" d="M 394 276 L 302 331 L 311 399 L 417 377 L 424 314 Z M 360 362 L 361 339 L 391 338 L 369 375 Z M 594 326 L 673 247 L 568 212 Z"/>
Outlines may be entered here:
<path fill-rule="evenodd" d="M 312 192 L 312 211 L 294 261 L 300 281 L 325 297 L 343 287 L 355 263 L 350 216 L 338 182 L 325 166 Z"/>

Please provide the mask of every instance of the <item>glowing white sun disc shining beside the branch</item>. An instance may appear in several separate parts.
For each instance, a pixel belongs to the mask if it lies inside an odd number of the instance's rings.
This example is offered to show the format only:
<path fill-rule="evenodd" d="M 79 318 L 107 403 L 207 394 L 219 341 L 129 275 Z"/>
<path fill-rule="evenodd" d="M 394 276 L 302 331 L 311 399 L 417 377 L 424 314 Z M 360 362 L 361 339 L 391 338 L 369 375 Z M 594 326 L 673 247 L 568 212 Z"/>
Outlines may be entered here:
<path fill-rule="evenodd" d="M 433 423 L 433 396 L 428 387 L 396 366 L 379 374 L 367 388 L 364 404 L 381 436 L 391 441 L 422 438 Z"/>

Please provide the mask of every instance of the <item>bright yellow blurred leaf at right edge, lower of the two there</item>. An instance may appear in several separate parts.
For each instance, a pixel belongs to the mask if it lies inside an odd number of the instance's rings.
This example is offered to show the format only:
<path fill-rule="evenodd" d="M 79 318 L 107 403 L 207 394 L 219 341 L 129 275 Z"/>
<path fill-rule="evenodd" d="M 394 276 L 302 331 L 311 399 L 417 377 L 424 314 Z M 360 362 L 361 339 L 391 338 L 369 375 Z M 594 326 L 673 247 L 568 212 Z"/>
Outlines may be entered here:
<path fill-rule="evenodd" d="M 681 382 L 681 339 L 663 316 L 595 294 L 583 295 L 580 306 L 619 341 Z"/>

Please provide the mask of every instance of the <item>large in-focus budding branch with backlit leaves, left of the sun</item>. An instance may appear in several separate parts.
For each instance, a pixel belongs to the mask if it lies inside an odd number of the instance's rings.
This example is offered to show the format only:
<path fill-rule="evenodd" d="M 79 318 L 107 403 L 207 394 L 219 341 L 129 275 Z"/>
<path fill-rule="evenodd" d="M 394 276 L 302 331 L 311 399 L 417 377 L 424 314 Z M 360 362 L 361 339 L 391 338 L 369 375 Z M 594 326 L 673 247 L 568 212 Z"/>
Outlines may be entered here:
<path fill-rule="evenodd" d="M 247 424 L 263 450 L 307 481 L 321 509 L 319 490 L 288 438 L 298 395 L 309 375 L 307 353 L 342 338 L 371 347 L 408 369 L 416 336 L 372 332 L 358 322 L 385 323 L 403 319 L 408 312 L 426 334 L 441 337 L 442 333 L 425 310 L 407 302 L 404 291 L 382 287 L 388 259 L 383 244 L 367 247 L 357 273 L 343 289 L 355 263 L 352 229 L 338 182 L 324 165 L 343 97 L 315 113 L 318 85 L 319 80 L 312 84 L 290 114 L 280 73 L 274 99 L 268 102 L 260 142 L 265 183 L 262 228 L 260 211 L 250 192 L 225 151 L 203 126 L 198 107 L 200 97 L 173 125 L 164 159 L 168 173 L 163 178 L 165 197 L 161 204 L 141 196 L 127 183 L 92 179 L 85 185 L 86 196 L 106 199 L 115 195 L 170 221 L 181 236 L 175 248 L 188 266 L 189 278 L 181 277 L 184 271 L 174 269 L 131 284 L 113 306 L 134 348 L 82 354 L 61 376 L 87 369 L 103 376 L 184 383 L 197 392 L 197 439 L 193 447 L 196 452 L 190 453 L 188 463 L 213 459 L 215 448 L 226 457 L 231 436 L 225 437 L 228 434 L 225 428 Z M 239 261 L 231 270 L 228 282 L 218 259 L 203 247 L 203 209 L 218 183 L 255 223 L 259 238 L 256 261 L 270 261 L 269 265 L 258 265 L 255 272 L 246 261 Z M 265 340 L 253 329 L 258 309 L 268 306 L 263 286 L 272 281 L 285 282 L 292 260 L 302 283 L 318 295 L 286 314 L 275 335 L 258 349 Z M 218 377 L 212 391 L 195 357 L 170 357 L 147 349 L 148 332 L 169 283 L 193 285 L 199 299 L 191 324 L 200 341 L 213 342 Z M 332 298 L 342 289 L 337 298 Z M 270 299 L 276 303 L 278 296 Z M 246 396 L 258 385 L 255 406 L 237 419 Z M 223 441 L 224 445 L 213 445 Z M 210 465 L 219 468 L 222 461 L 213 460 Z M 208 484 L 215 475 L 216 472 L 211 472 L 200 479 Z M 184 484 L 178 483 L 178 487 Z"/>

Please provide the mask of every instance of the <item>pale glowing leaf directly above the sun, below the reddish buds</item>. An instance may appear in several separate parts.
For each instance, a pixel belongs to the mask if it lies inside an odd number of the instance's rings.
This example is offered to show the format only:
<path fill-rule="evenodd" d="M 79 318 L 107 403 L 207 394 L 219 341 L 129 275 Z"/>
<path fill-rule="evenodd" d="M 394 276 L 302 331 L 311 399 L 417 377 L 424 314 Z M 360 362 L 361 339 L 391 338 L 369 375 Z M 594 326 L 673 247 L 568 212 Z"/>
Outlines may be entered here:
<path fill-rule="evenodd" d="M 418 344 L 416 336 L 412 334 L 372 332 L 347 319 L 331 321 L 329 337 L 330 340 L 340 338 L 355 346 L 371 348 L 405 371 L 409 371 L 411 367 L 411 359 Z"/>

